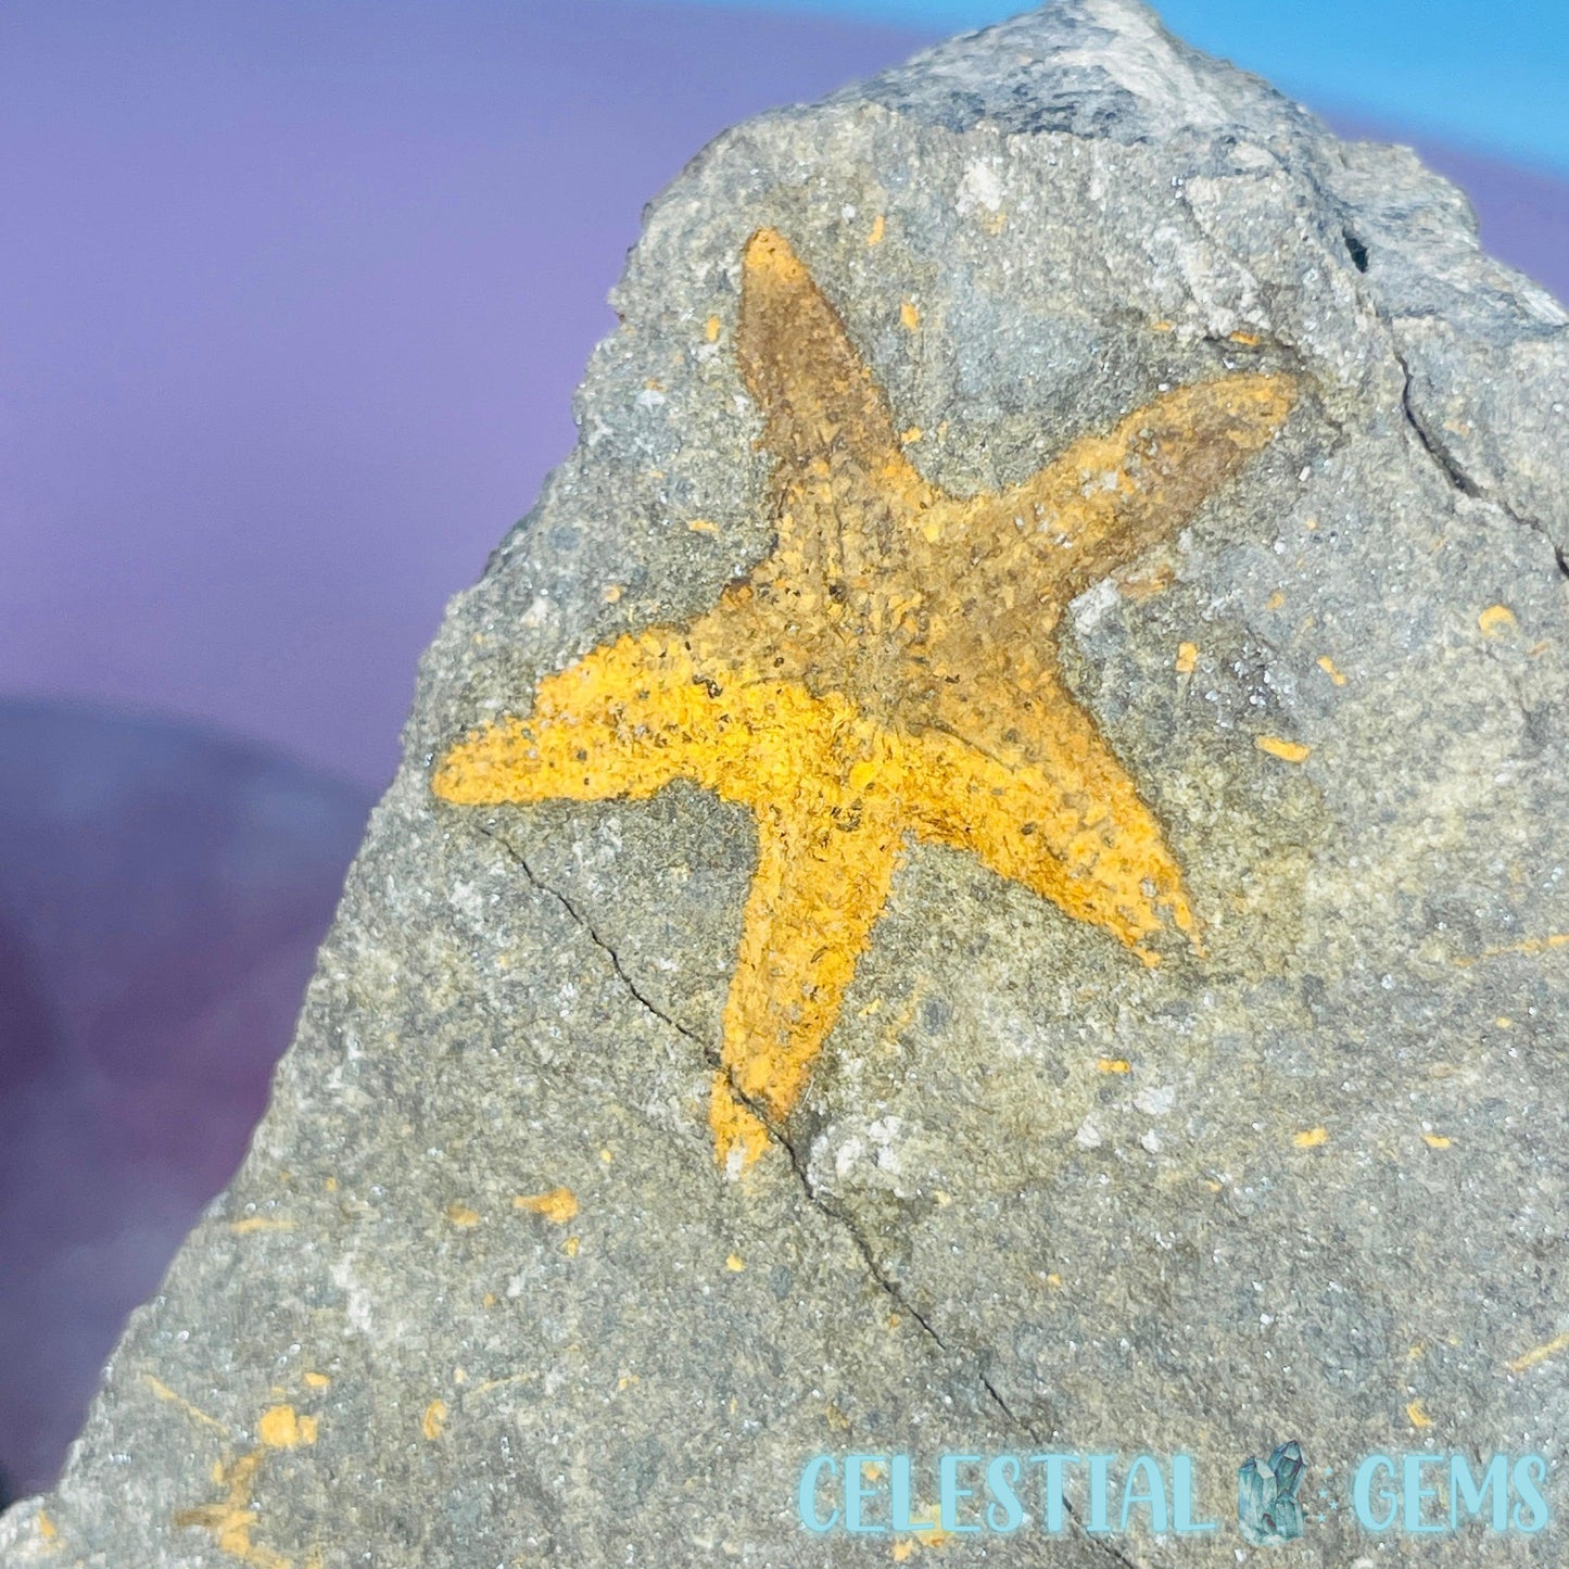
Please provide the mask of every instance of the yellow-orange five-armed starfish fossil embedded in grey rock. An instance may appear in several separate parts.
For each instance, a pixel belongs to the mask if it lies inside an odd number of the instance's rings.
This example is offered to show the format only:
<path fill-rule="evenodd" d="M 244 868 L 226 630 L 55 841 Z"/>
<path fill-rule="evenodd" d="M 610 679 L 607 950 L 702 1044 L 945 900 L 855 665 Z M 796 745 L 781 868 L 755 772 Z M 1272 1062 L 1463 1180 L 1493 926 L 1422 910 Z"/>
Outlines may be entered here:
<path fill-rule="evenodd" d="M 477 730 L 466 805 L 642 799 L 692 780 L 756 819 L 709 1123 L 730 1170 L 805 1089 L 905 836 L 968 850 L 1153 963 L 1194 929 L 1159 825 L 1062 679 L 1068 601 L 1192 516 L 1280 427 L 1283 375 L 1166 392 L 1018 485 L 949 496 L 904 455 L 844 323 L 772 229 L 736 356 L 774 458 L 777 543 L 686 624 L 626 632 Z"/>

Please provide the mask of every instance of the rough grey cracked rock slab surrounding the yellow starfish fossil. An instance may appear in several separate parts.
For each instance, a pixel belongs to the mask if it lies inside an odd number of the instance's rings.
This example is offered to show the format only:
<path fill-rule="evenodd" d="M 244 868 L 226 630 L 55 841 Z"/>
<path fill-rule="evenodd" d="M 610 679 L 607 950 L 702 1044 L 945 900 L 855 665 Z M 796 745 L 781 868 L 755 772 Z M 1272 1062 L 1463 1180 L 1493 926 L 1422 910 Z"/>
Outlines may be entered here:
<path fill-rule="evenodd" d="M 758 814 L 431 777 L 788 532 L 736 350 L 758 231 L 949 497 L 1170 389 L 1294 402 L 1043 612 L 1199 941 L 1167 901 L 1141 963 L 912 836 L 737 1170 L 708 1116 Z M 1345 1469 L 1563 1459 L 1569 317 L 1407 152 L 1131 0 L 722 137 L 615 306 L 577 450 L 425 661 L 253 1153 L 0 1561 L 890 1561 L 937 1549 L 800 1528 L 808 1456 L 1100 1448 L 1192 1453 L 1221 1530 L 941 1553 L 1230 1564 L 1238 1464 L 1296 1439 L 1307 1528 L 1271 1561 L 1560 1563 L 1561 1495 L 1534 1536 L 1374 1539 Z"/>

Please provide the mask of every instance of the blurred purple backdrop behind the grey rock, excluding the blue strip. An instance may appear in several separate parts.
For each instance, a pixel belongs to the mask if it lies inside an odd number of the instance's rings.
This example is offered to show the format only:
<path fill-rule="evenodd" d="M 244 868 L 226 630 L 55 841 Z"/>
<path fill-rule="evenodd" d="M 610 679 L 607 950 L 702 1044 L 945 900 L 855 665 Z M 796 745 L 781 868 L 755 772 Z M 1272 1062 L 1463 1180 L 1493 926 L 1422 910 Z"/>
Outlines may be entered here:
<path fill-rule="evenodd" d="M 243 1152 L 416 657 L 573 441 L 642 204 L 725 126 L 924 41 L 582 0 L 0 14 L 20 1489 Z M 1569 297 L 1569 187 L 1422 151 Z"/>

